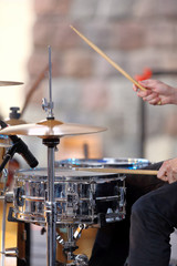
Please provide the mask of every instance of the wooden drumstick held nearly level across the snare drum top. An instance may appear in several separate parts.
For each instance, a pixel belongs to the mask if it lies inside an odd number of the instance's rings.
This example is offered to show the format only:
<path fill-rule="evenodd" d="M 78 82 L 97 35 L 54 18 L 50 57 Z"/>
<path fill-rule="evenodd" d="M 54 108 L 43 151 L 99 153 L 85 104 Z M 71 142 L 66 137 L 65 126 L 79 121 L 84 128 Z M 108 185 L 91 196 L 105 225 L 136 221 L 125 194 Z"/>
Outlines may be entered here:
<path fill-rule="evenodd" d="M 128 168 L 75 168 L 77 171 L 88 171 L 88 172 L 98 172 L 98 173 L 115 173 L 115 174 L 142 174 L 142 175 L 157 175 L 158 171 L 156 170 L 128 170 Z"/>

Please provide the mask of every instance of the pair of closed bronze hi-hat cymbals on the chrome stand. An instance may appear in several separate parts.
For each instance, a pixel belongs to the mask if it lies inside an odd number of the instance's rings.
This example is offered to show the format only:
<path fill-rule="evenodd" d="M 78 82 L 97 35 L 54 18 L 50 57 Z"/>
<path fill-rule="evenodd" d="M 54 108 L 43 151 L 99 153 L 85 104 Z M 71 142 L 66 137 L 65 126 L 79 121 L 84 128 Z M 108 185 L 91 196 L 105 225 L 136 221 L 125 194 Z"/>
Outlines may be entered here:
<path fill-rule="evenodd" d="M 106 127 L 63 123 L 58 120 L 43 120 L 37 124 L 12 125 L 0 131 L 4 135 L 31 135 L 49 139 L 54 136 L 92 134 L 106 131 Z"/>

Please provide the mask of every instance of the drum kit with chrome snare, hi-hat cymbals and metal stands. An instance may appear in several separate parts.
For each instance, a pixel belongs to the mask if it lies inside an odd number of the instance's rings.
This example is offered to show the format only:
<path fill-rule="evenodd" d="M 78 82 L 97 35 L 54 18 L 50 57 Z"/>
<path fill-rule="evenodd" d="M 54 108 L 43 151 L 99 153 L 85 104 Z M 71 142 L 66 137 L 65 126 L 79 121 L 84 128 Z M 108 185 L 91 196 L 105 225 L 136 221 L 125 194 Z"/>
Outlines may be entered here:
<path fill-rule="evenodd" d="M 88 258 L 86 255 L 74 254 L 77 249 L 76 241 L 80 238 L 82 231 L 122 221 L 126 214 L 125 175 L 118 173 L 98 173 L 94 172 L 94 167 L 101 170 L 104 167 L 138 168 L 146 166 L 148 161 L 102 158 L 55 162 L 54 152 L 61 137 L 97 133 L 106 129 L 63 123 L 55 120 L 51 89 L 50 48 L 49 73 L 50 101 L 48 102 L 44 99 L 42 104 L 43 109 L 48 112 L 46 120 L 32 124 L 11 125 L 0 131 L 2 140 L 2 144 L 0 140 L 0 146 L 6 150 L 1 155 L 3 164 L 2 183 L 7 177 L 7 170 L 3 163 L 4 154 L 9 146 L 18 145 L 19 137 L 18 141 L 14 141 L 15 135 L 41 137 L 43 145 L 48 147 L 48 167 L 38 168 L 34 165 L 32 166 L 33 168 L 19 170 L 14 174 L 13 192 L 9 195 L 4 190 L 6 186 L 1 190 L 1 198 L 4 201 L 1 254 L 2 257 L 8 255 L 8 250 L 4 248 L 6 203 L 13 198 L 11 217 L 14 221 L 19 223 L 33 223 L 45 228 L 48 266 L 87 266 Z M 29 155 L 25 153 L 27 151 L 21 150 L 24 158 Z M 28 160 L 30 161 L 29 157 Z M 80 167 L 84 170 L 80 170 Z M 90 168 L 93 171 L 90 172 Z M 62 237 L 58 228 L 66 231 L 66 238 Z M 66 263 L 56 260 L 56 245 L 61 246 L 66 257 Z M 18 256 L 17 250 L 15 255 Z"/>

